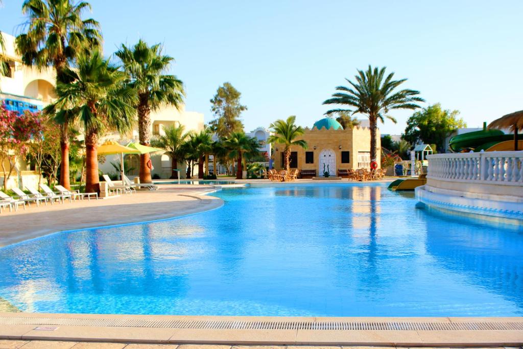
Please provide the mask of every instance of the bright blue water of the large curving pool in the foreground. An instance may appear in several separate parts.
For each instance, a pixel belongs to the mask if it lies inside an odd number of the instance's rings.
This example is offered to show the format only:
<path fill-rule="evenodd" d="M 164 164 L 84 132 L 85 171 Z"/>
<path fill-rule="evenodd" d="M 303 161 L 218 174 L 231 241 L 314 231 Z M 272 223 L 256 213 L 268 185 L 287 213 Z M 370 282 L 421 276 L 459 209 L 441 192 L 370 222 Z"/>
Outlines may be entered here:
<path fill-rule="evenodd" d="M 237 188 L 185 218 L 0 249 L 25 311 L 522 316 L 523 231 L 417 209 L 381 184 Z"/>

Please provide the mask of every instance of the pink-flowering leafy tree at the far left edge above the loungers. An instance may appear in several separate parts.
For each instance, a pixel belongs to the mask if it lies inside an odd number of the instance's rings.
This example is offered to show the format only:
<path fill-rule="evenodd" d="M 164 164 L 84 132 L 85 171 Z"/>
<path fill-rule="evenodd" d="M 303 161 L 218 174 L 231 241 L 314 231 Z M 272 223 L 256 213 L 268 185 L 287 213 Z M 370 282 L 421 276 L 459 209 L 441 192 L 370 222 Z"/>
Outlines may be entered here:
<path fill-rule="evenodd" d="M 18 114 L 0 104 L 0 166 L 4 177 L 4 189 L 7 189 L 16 156 L 24 155 L 32 139 L 42 137 L 42 120 L 39 113 L 29 111 Z"/>

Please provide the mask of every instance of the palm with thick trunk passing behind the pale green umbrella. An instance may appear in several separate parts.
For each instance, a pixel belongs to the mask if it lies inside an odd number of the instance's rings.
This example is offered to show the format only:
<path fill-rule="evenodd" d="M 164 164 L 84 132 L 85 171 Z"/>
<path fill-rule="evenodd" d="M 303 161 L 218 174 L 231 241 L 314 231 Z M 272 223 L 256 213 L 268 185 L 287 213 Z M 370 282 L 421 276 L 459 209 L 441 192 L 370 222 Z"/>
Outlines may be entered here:
<path fill-rule="evenodd" d="M 174 58 L 163 54 L 161 44 L 147 45 L 140 40 L 132 48 L 122 44 L 116 55 L 129 74 L 129 86 L 138 94 L 138 133 L 140 144 L 149 145 L 151 111 L 170 105 L 179 109 L 185 96 L 184 84 L 175 75 L 166 75 Z M 140 155 L 140 182 L 151 183 L 151 170 L 147 167 L 149 154 Z"/>

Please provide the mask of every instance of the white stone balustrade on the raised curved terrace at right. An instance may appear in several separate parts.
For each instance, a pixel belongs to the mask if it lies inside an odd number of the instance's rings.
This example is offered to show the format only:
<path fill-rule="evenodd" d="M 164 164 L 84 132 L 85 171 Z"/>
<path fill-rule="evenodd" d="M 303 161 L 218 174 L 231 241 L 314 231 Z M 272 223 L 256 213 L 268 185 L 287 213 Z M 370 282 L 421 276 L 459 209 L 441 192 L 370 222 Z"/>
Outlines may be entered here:
<path fill-rule="evenodd" d="M 523 151 L 428 155 L 427 178 L 523 185 Z"/>

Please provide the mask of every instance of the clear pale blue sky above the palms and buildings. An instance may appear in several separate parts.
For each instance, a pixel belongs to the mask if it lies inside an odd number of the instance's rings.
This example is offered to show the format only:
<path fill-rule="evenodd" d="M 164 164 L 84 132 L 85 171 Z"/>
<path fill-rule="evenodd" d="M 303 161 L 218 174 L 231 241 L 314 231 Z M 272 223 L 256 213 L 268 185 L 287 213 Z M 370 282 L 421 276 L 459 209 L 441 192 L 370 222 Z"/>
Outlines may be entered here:
<path fill-rule="evenodd" d="M 334 87 L 385 65 L 427 103 L 458 109 L 469 127 L 523 109 L 523 1 L 92 0 L 105 52 L 163 42 L 187 90 L 187 110 L 212 119 L 209 99 L 231 82 L 251 130 L 296 115 L 312 126 Z M 4 0 L 0 30 L 18 33 L 21 0 Z M 401 133 L 394 111 L 382 133 Z"/>

